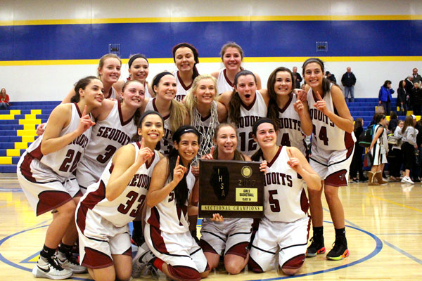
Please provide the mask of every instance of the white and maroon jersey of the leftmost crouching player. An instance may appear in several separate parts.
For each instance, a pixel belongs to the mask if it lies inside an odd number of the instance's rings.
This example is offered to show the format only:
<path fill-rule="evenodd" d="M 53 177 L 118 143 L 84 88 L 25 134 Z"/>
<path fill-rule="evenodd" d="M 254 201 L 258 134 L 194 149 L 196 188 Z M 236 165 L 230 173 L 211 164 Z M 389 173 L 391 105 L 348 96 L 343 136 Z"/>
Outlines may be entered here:
<path fill-rule="evenodd" d="M 82 113 L 76 103 L 70 103 L 70 106 L 72 107 L 72 117 L 68 126 L 60 132 L 60 136 L 75 131 L 79 125 L 79 119 L 82 117 Z M 47 121 L 46 126 L 48 124 L 49 121 Z M 49 181 L 49 178 L 44 178 L 42 175 L 49 174 L 53 171 L 53 173 L 63 178 L 74 178 L 72 173 L 76 170 L 77 164 L 84 155 L 89 138 L 91 137 L 91 130 L 92 127 L 84 131 L 80 136 L 77 136 L 77 138 L 64 148 L 56 152 L 51 152 L 48 155 L 43 155 L 41 152 L 41 143 L 44 135 L 39 136 L 21 157 L 23 161 L 20 165 L 20 170 L 23 176 L 28 181 L 44 182 Z"/>

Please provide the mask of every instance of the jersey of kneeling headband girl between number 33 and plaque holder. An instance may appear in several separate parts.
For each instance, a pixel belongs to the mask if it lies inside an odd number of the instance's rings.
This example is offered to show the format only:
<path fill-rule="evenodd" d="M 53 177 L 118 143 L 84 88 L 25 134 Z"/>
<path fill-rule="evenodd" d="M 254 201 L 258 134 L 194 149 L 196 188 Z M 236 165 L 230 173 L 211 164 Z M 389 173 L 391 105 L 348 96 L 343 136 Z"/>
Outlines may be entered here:
<path fill-rule="evenodd" d="M 165 185 L 170 183 L 170 181 L 169 176 Z M 190 168 L 186 176 L 186 183 L 189 198 L 193 185 L 195 185 L 195 176 L 193 176 Z M 165 233 L 186 233 L 189 231 L 188 200 L 186 200 L 184 205 L 177 204 L 173 190 L 162 202 L 152 208 L 146 207 L 145 221 Z"/>

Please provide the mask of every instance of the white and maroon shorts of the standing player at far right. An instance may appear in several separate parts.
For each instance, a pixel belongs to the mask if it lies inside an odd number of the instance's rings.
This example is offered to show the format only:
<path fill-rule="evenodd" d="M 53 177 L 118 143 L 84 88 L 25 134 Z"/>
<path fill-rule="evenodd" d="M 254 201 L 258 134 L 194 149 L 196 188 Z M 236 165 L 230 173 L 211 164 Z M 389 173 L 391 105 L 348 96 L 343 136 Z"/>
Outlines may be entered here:
<path fill-rule="evenodd" d="M 348 150 L 321 150 L 312 146 L 309 165 L 326 185 L 347 186 L 354 145 Z"/>

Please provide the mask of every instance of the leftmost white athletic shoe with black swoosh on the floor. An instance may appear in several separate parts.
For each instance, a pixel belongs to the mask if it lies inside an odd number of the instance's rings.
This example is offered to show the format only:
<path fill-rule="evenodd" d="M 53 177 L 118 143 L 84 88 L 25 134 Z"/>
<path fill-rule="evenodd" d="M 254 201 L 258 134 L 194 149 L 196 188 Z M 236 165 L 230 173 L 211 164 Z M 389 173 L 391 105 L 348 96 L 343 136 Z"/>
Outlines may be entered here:
<path fill-rule="evenodd" d="M 37 278 L 49 278 L 53 280 L 68 279 L 72 276 L 72 271 L 62 268 L 55 257 L 39 257 L 37 264 L 32 270 L 32 275 Z"/>

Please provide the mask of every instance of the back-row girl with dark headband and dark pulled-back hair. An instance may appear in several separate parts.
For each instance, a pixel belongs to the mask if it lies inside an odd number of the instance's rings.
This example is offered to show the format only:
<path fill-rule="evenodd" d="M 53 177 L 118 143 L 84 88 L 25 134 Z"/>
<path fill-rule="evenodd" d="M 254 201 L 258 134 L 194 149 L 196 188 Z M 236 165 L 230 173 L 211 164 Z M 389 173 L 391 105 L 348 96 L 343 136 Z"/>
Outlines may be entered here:
<path fill-rule="evenodd" d="M 173 47 L 173 60 L 177 70 L 173 72 L 177 81 L 176 100 L 182 101 L 188 94 L 193 80 L 199 75 L 196 64 L 199 63 L 198 51 L 188 43 L 180 43 Z"/>

